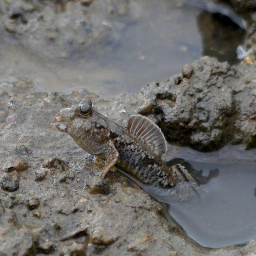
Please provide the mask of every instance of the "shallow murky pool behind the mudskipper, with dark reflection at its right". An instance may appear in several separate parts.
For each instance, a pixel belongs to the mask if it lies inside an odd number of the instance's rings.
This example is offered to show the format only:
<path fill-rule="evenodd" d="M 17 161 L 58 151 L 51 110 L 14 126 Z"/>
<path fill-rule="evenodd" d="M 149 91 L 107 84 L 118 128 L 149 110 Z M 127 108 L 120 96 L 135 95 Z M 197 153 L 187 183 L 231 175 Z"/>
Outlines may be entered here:
<path fill-rule="evenodd" d="M 107 20 L 106 26 L 115 28 L 108 44 L 97 52 L 88 49 L 93 54 L 81 52 L 71 58 L 47 58 L 14 37 L 12 45 L 2 36 L 1 82 L 27 78 L 35 82 L 38 92 L 86 89 L 110 99 L 138 92 L 150 81 L 168 79 L 204 55 L 235 63 L 244 30 L 227 16 L 218 16 L 218 6 L 211 13 L 205 4 L 194 2 L 198 1 L 135 1 L 135 20 L 125 15 Z"/>

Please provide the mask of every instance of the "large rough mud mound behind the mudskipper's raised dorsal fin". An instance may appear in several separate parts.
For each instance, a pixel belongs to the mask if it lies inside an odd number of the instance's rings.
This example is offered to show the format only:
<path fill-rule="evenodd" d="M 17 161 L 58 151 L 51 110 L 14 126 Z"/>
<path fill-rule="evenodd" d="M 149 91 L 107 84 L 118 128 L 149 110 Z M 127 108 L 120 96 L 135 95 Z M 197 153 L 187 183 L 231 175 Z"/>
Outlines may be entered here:
<path fill-rule="evenodd" d="M 118 96 L 99 107 L 115 117 L 120 108 L 140 113 L 159 124 L 171 142 L 198 150 L 215 150 L 226 143 L 247 140 L 255 129 L 256 83 L 253 66 L 240 64 L 241 71 L 226 62 L 204 57 L 185 66 L 182 73 L 161 83 L 150 83 L 138 94 Z M 111 115 L 110 113 L 115 113 Z"/>

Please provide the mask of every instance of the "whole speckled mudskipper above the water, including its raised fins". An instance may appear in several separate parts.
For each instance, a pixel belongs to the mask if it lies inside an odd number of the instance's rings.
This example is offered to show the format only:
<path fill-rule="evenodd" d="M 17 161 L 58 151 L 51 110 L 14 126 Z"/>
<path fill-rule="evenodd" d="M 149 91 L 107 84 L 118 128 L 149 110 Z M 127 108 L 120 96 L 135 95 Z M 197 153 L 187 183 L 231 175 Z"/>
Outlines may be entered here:
<path fill-rule="evenodd" d="M 168 168 L 164 164 L 164 135 L 145 116 L 131 116 L 124 128 L 95 111 L 89 99 L 83 99 L 60 110 L 55 125 L 86 152 L 105 160 L 102 177 L 117 165 L 148 185 L 170 188 L 180 181 L 194 181 L 183 166 Z"/>

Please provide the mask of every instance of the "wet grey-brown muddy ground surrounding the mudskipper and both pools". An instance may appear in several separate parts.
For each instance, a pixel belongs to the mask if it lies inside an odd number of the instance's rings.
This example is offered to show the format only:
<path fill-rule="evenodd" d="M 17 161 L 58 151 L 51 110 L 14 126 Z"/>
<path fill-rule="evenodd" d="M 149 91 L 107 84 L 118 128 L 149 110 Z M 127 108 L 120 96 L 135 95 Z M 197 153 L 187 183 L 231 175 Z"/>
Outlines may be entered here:
<path fill-rule="evenodd" d="M 105 33 L 102 21 L 126 12 L 132 20 L 132 3 L 1 2 L 2 36 L 41 54 L 68 57 L 110 40 L 113 30 Z M 71 9 L 84 21 L 69 23 Z M 76 29 L 70 27 L 74 24 Z M 86 92 L 36 93 L 35 81 L 20 78 L 1 84 L 0 255 L 253 255 L 255 241 L 222 249 L 196 244 L 167 217 L 162 204 L 126 176 L 116 171 L 98 179 L 101 166 L 53 124 L 61 108 L 89 97 L 100 113 L 121 125 L 131 114 L 148 116 L 173 145 L 204 151 L 227 143 L 255 147 L 252 26 L 246 57 L 236 67 L 203 57 L 180 74 L 112 101 Z M 70 28 L 75 32 L 69 44 L 65 31 Z"/>

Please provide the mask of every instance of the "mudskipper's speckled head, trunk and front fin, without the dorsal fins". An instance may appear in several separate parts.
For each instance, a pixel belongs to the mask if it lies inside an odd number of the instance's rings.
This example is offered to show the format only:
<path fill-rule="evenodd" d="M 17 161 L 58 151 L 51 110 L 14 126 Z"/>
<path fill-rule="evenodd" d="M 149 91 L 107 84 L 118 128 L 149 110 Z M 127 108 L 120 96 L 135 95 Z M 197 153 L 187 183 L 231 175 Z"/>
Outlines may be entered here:
<path fill-rule="evenodd" d="M 90 113 L 81 115 L 80 108 L 90 107 Z M 148 185 L 173 187 L 176 180 L 159 156 L 127 132 L 93 110 L 89 99 L 83 99 L 71 108 L 64 108 L 55 118 L 61 132 L 68 133 L 86 152 L 106 160 L 100 176 L 105 177 L 116 164 Z"/>

